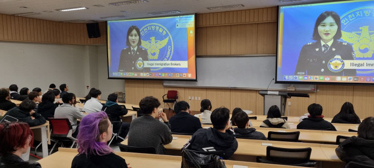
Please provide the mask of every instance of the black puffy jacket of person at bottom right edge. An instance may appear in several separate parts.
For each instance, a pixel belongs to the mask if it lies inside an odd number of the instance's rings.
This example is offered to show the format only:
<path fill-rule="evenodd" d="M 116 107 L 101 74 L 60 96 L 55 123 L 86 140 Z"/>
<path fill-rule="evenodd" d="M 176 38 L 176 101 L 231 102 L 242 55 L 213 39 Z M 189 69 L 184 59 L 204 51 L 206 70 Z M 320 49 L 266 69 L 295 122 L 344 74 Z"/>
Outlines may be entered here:
<path fill-rule="evenodd" d="M 352 136 L 340 143 L 335 152 L 345 163 L 355 161 L 374 166 L 374 140 Z"/>

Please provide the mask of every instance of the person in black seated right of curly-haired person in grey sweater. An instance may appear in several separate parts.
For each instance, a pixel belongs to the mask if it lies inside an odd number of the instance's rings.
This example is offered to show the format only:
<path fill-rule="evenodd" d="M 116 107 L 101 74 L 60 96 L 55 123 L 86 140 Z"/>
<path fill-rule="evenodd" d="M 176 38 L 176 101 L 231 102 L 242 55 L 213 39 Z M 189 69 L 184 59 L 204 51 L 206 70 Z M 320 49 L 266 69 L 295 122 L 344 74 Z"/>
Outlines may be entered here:
<path fill-rule="evenodd" d="M 190 114 L 190 105 L 179 101 L 174 105 L 176 115 L 169 119 L 171 131 L 175 133 L 195 133 L 202 128 L 200 119 Z"/>

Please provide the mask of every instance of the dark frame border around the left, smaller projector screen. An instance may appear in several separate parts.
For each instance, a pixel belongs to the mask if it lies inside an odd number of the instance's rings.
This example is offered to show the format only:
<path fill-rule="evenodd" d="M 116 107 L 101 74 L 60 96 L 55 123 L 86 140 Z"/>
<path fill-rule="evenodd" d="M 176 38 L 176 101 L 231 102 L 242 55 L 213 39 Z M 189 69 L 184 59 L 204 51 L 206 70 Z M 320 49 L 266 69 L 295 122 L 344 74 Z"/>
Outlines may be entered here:
<path fill-rule="evenodd" d="M 174 17 L 174 16 L 186 16 L 186 15 L 194 15 L 194 49 L 195 49 L 195 79 L 169 79 L 169 78 L 116 78 L 110 77 L 110 69 L 109 69 L 109 51 L 108 51 L 108 21 L 116 21 L 116 20 L 107 20 L 106 21 L 106 35 L 107 35 L 107 69 L 108 69 L 108 79 L 120 79 L 120 80 L 155 80 L 155 81 L 197 81 L 197 63 L 196 63 L 196 13 L 188 13 L 188 14 L 178 14 L 178 15 L 164 15 L 164 16 L 154 16 L 154 17 L 140 17 L 140 18 L 129 18 L 129 19 L 118 19 L 118 20 L 134 20 L 134 19 L 149 19 L 149 18 L 162 18 L 162 17 Z"/>

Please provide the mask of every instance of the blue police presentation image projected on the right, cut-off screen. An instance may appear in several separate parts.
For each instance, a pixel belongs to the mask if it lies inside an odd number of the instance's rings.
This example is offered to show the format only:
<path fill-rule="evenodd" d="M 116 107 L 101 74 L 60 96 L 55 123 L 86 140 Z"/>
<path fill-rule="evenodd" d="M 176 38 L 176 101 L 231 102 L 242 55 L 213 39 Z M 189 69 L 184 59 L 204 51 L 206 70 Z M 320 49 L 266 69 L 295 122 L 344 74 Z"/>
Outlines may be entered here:
<path fill-rule="evenodd" d="M 279 83 L 374 84 L 374 1 L 280 6 Z"/>

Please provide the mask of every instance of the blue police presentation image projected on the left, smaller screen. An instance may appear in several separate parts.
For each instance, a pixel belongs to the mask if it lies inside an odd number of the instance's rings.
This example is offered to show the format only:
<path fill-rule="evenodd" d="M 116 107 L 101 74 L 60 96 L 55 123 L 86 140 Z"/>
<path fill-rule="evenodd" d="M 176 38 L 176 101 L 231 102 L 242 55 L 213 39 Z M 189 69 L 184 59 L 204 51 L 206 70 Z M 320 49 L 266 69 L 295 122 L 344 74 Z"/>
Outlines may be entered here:
<path fill-rule="evenodd" d="M 195 15 L 107 22 L 108 77 L 196 80 Z"/>

